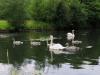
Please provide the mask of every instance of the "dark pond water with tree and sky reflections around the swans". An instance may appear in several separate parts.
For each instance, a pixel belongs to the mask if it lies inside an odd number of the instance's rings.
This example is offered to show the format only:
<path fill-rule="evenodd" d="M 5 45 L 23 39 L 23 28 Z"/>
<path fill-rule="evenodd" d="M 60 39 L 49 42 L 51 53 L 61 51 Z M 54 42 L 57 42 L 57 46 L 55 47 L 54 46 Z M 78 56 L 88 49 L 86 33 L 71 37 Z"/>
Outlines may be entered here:
<path fill-rule="evenodd" d="M 65 46 L 69 31 L 0 33 L 0 75 L 99 75 L 100 30 L 75 31 L 75 40 L 82 41 L 78 51 L 49 51 L 49 35 Z M 13 39 L 23 44 L 14 45 Z M 31 39 L 40 45 L 32 46 Z"/>

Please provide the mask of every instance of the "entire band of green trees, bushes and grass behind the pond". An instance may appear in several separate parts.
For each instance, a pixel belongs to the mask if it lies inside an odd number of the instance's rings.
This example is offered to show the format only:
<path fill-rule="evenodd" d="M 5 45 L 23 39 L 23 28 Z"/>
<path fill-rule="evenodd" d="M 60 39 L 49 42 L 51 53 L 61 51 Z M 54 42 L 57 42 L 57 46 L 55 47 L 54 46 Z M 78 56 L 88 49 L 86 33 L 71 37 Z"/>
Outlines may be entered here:
<path fill-rule="evenodd" d="M 0 29 L 100 28 L 100 0 L 0 0 Z"/>

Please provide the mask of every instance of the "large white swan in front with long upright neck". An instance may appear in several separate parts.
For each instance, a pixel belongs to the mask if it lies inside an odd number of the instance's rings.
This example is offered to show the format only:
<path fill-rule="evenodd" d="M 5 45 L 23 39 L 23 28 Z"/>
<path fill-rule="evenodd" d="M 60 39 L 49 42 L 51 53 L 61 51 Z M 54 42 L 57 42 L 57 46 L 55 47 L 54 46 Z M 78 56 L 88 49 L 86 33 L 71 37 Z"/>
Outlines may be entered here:
<path fill-rule="evenodd" d="M 61 44 L 57 43 L 53 43 L 53 35 L 50 35 L 50 44 L 49 45 L 49 49 L 51 50 L 62 50 L 65 49 L 65 47 L 63 47 Z"/>

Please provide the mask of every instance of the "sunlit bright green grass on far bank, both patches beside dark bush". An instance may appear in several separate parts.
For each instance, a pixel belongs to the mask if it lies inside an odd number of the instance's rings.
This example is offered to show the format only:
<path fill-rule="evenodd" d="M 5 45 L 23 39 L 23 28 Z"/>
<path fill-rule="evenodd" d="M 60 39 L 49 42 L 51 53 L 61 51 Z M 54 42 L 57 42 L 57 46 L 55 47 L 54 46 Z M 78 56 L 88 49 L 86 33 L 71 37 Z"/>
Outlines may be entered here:
<path fill-rule="evenodd" d="M 27 20 L 25 22 L 26 30 L 51 30 L 52 24 L 44 23 L 40 21 Z M 12 26 L 6 20 L 0 20 L 0 30 L 11 30 Z"/>

